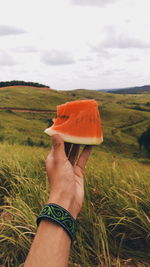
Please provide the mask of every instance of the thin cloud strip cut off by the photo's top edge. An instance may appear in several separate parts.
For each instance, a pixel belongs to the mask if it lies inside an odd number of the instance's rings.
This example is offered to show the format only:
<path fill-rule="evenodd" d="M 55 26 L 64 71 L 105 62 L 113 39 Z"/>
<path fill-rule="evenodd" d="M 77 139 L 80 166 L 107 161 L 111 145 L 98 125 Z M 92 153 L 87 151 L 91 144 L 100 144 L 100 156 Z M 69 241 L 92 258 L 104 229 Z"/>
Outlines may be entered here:
<path fill-rule="evenodd" d="M 71 0 L 74 5 L 103 7 L 118 0 Z"/>

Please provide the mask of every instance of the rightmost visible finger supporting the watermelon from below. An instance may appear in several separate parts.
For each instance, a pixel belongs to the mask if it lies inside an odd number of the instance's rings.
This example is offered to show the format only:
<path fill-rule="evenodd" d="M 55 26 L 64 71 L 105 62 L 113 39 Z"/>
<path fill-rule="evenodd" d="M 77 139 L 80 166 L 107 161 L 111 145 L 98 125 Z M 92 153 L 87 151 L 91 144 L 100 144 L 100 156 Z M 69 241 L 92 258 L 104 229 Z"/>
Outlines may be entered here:
<path fill-rule="evenodd" d="M 85 146 L 77 163 L 76 163 L 76 166 L 78 166 L 82 171 L 84 171 L 84 168 L 85 168 L 85 165 L 86 165 L 86 162 L 90 156 L 90 153 L 91 153 L 91 150 L 92 150 L 92 146 Z"/>

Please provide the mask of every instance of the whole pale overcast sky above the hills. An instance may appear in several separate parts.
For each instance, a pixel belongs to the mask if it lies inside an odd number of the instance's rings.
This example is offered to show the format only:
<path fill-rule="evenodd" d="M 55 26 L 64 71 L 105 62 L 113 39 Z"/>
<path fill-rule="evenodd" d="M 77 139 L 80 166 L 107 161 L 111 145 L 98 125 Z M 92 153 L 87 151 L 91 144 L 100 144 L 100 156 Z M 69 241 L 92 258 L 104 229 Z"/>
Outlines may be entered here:
<path fill-rule="evenodd" d="M 150 84 L 149 0 L 0 0 L 0 81 Z"/>

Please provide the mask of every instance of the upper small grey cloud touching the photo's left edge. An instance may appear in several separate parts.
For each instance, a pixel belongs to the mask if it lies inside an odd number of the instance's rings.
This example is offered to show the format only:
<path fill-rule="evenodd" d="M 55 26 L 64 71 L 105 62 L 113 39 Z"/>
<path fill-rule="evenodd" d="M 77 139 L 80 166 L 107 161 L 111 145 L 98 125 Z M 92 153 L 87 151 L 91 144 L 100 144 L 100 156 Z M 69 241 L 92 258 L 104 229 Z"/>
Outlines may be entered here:
<path fill-rule="evenodd" d="M 23 33 L 26 33 L 26 31 L 23 29 L 9 25 L 0 25 L 0 36 L 17 35 Z"/>

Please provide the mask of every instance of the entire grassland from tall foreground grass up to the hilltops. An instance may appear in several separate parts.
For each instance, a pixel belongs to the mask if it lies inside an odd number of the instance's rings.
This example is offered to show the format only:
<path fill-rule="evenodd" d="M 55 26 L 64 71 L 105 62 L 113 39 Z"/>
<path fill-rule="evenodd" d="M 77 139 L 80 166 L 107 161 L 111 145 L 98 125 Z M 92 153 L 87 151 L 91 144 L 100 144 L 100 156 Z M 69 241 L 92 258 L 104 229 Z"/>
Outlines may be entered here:
<path fill-rule="evenodd" d="M 86 168 L 85 201 L 70 267 L 149 266 L 150 160 L 139 153 L 137 144 L 150 122 L 149 111 L 141 110 L 148 108 L 149 95 L 13 90 L 0 91 L 0 107 L 55 109 L 57 104 L 85 98 L 99 103 L 104 144 L 93 148 Z M 0 111 L 2 266 L 18 267 L 24 262 L 36 232 L 36 217 L 47 201 L 45 158 L 50 139 L 43 130 L 50 117 Z"/>

